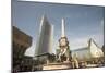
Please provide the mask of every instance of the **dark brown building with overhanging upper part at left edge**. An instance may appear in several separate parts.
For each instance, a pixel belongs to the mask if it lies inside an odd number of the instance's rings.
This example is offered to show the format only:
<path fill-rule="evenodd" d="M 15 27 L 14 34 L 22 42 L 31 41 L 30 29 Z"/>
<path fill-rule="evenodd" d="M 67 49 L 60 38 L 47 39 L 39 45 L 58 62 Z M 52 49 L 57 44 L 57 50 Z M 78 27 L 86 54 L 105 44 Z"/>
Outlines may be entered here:
<path fill-rule="evenodd" d="M 20 31 L 15 26 L 12 26 L 12 56 L 13 70 L 21 71 L 24 53 L 27 48 L 32 46 L 32 37 Z"/>

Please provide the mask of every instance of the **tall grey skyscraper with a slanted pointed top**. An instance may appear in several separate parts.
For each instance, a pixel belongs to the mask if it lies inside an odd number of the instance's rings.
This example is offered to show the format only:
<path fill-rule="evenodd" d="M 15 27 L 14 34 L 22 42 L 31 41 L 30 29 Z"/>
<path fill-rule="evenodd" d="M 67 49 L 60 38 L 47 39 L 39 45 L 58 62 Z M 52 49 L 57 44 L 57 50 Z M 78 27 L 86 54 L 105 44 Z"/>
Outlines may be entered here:
<path fill-rule="evenodd" d="M 38 42 L 36 45 L 35 56 L 51 53 L 52 28 L 53 26 L 49 24 L 47 17 L 43 15 L 40 21 L 39 37 Z"/>

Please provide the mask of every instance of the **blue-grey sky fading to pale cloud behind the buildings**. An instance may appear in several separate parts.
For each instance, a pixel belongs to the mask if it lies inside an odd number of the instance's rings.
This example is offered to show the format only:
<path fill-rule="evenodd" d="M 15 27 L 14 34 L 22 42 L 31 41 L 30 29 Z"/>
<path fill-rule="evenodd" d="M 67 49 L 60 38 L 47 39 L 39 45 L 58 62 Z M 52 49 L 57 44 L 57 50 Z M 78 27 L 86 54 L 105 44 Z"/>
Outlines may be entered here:
<path fill-rule="evenodd" d="M 53 25 L 52 52 L 58 49 L 61 37 L 61 19 L 65 20 L 65 35 L 70 49 L 86 47 L 93 38 L 99 47 L 104 45 L 105 8 L 95 5 L 59 4 L 45 2 L 12 1 L 12 25 L 33 37 L 25 54 L 34 56 L 43 15 Z"/>

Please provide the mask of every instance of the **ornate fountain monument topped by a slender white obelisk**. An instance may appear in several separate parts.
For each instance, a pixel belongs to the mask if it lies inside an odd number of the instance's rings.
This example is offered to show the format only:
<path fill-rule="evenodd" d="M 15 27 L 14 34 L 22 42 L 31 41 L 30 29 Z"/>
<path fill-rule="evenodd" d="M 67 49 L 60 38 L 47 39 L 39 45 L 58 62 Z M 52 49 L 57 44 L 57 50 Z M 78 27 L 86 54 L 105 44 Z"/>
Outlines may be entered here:
<path fill-rule="evenodd" d="M 70 61 L 71 59 L 71 52 L 69 49 L 69 41 L 65 36 L 65 21 L 62 19 L 62 24 L 61 24 L 61 38 L 59 39 L 59 60 L 60 61 Z"/>

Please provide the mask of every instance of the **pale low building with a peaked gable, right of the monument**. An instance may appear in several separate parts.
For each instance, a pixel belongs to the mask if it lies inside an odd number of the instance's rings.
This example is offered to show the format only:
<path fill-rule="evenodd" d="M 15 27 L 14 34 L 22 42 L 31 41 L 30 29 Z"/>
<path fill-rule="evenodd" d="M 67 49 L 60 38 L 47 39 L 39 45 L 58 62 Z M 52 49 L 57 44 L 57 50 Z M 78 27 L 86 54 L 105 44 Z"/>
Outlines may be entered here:
<path fill-rule="evenodd" d="M 84 60 L 85 58 L 88 59 L 104 57 L 101 48 L 99 48 L 92 38 L 89 39 L 87 47 L 73 50 L 72 54 L 76 54 L 81 60 Z"/>

